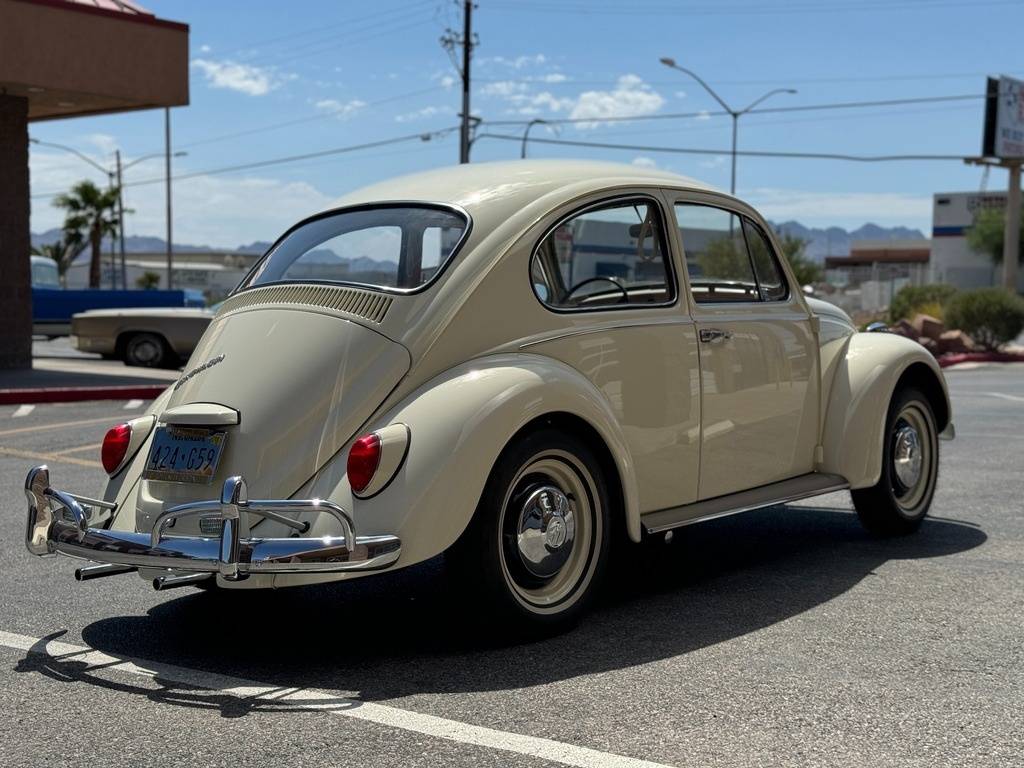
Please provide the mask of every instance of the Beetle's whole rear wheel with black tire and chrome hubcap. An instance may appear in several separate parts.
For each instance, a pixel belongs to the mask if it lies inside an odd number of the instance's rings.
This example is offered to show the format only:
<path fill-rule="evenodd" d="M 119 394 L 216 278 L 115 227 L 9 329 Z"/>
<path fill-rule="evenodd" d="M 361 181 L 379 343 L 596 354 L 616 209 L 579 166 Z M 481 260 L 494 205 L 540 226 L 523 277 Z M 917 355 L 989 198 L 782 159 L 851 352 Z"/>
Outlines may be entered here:
<path fill-rule="evenodd" d="M 446 560 L 459 588 L 476 592 L 474 606 L 498 627 L 562 630 L 583 614 L 600 584 L 610 518 L 594 453 L 572 434 L 539 429 L 502 452 Z"/>

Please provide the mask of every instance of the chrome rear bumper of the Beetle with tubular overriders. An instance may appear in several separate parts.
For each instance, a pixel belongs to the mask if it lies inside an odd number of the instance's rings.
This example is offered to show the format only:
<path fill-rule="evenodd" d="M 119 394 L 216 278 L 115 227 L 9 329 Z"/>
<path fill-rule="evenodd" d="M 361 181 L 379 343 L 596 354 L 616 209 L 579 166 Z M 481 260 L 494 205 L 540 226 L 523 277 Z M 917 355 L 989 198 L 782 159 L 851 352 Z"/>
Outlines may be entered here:
<path fill-rule="evenodd" d="M 245 480 L 239 476 L 224 481 L 219 501 L 190 502 L 166 510 L 157 517 L 152 534 L 90 527 L 91 508 L 113 512 L 116 506 L 51 487 L 45 466 L 29 472 L 25 493 L 29 499 L 29 552 L 40 556 L 59 553 L 127 566 L 102 568 L 102 573 L 163 568 L 171 572 L 219 573 L 228 581 L 240 581 L 250 573 L 335 573 L 383 568 L 397 560 L 401 552 L 397 537 L 357 537 L 351 516 L 337 504 L 321 499 L 250 501 Z M 330 515 L 341 526 L 342 535 L 261 539 L 250 534 L 250 521 L 260 518 L 305 531 L 307 523 L 289 514 L 310 511 Z M 194 516 L 201 516 L 203 522 L 219 521 L 219 536 L 167 532 L 177 519 Z"/>

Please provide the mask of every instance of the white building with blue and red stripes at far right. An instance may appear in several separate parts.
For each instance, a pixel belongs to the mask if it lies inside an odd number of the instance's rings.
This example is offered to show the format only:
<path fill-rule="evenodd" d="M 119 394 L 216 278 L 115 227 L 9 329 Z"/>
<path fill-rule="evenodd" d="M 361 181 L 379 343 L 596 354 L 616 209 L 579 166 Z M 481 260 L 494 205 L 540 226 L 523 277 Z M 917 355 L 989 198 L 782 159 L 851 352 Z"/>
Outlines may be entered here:
<path fill-rule="evenodd" d="M 985 253 L 972 251 L 967 230 L 978 211 L 1007 207 L 1006 193 L 938 193 L 932 208 L 932 258 L 930 282 L 948 283 L 956 288 L 985 288 L 1000 285 L 1002 266 Z M 1024 290 L 1024 270 L 1018 290 Z"/>

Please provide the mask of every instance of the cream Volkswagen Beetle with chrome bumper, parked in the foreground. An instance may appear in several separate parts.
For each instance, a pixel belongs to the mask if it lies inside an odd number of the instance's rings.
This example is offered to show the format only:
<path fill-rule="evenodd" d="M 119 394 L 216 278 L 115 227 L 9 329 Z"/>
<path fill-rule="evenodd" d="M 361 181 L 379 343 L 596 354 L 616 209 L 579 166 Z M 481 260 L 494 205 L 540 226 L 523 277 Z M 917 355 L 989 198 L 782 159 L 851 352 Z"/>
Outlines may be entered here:
<path fill-rule="evenodd" d="M 27 539 L 94 561 L 80 580 L 157 589 L 446 553 L 481 605 L 555 624 L 616 535 L 840 488 L 870 530 L 910 531 L 951 431 L 932 356 L 805 298 L 735 198 L 630 166 L 469 165 L 289 229 L 106 434 L 100 499 L 29 473 Z"/>

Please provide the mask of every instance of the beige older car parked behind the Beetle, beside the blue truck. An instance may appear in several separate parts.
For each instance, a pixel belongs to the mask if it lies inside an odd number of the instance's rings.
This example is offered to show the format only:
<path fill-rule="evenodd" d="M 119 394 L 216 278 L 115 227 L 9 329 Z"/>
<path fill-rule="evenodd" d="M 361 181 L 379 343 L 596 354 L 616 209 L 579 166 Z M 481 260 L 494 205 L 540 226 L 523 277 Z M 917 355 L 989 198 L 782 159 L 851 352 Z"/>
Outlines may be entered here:
<path fill-rule="evenodd" d="M 90 309 L 71 319 L 75 346 L 128 366 L 177 368 L 213 319 L 212 309 Z"/>

